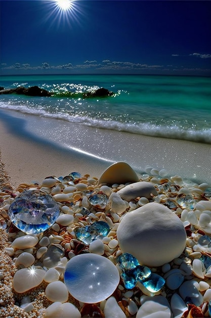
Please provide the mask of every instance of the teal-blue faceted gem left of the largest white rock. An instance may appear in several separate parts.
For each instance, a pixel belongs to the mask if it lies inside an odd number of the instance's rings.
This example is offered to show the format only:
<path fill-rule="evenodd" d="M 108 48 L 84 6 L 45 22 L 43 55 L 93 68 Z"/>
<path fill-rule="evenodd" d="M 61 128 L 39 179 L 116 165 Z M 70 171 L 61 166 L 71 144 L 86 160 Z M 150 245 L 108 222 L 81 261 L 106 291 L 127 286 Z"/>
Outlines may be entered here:
<path fill-rule="evenodd" d="M 110 227 L 106 222 L 98 221 L 84 228 L 77 228 L 75 237 L 84 244 L 89 245 L 92 241 L 107 236 L 109 231 Z"/>

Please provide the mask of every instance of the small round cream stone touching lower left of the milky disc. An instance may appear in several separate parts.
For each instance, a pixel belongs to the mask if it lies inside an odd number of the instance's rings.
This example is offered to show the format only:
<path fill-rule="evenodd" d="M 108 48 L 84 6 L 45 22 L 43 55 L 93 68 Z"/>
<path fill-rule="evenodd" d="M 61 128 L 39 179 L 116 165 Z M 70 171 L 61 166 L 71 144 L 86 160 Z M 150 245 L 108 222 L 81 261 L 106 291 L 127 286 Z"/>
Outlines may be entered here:
<path fill-rule="evenodd" d="M 62 281 L 53 281 L 48 284 L 45 290 L 46 297 L 50 301 L 64 303 L 68 299 L 68 290 Z"/>

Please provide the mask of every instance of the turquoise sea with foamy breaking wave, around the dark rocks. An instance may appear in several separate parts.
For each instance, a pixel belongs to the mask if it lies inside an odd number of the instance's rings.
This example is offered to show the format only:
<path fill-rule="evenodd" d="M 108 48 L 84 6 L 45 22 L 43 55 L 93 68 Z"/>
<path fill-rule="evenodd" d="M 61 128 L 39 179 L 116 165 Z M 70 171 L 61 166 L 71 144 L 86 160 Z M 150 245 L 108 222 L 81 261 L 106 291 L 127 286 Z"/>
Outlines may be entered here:
<path fill-rule="evenodd" d="M 54 97 L 0 95 L 0 109 L 79 125 L 211 144 L 211 78 L 158 75 L 2 76 L 0 86 L 37 85 Z M 83 99 L 104 87 L 115 95 Z M 65 93 L 71 91 L 73 96 Z M 1 115 L 0 115 L 1 116 Z"/>

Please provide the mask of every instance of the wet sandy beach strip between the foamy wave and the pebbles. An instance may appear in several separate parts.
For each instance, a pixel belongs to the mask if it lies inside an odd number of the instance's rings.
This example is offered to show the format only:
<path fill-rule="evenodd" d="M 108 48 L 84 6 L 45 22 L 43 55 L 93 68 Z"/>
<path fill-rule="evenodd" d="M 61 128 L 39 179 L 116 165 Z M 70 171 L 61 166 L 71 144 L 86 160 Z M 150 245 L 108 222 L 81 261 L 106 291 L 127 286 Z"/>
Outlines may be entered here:
<path fill-rule="evenodd" d="M 73 171 L 99 178 L 118 161 L 128 163 L 138 174 L 151 166 L 165 169 L 169 176 L 211 183 L 208 144 L 108 131 L 15 111 L 0 112 L 0 149 L 12 186 Z"/>

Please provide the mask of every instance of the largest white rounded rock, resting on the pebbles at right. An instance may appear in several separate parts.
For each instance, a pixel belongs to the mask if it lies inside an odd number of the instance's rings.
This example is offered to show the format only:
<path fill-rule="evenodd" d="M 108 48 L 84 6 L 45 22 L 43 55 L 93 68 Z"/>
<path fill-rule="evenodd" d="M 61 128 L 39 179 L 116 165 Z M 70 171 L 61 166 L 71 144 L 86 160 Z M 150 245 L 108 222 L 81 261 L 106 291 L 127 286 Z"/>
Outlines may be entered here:
<path fill-rule="evenodd" d="M 186 231 L 180 218 L 159 203 L 125 214 L 117 232 L 122 252 L 136 257 L 141 265 L 162 266 L 179 257 L 186 246 Z"/>

